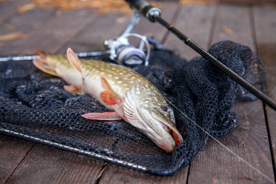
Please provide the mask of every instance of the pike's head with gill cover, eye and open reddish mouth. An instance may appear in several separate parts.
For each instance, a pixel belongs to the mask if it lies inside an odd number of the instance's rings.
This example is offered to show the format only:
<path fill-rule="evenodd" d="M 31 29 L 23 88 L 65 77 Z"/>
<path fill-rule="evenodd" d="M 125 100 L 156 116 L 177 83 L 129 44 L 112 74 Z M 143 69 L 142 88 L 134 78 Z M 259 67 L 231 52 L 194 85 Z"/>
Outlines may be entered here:
<path fill-rule="evenodd" d="M 150 83 L 132 86 L 124 104 L 128 122 L 144 132 L 166 152 L 173 152 L 183 139 L 175 126 L 172 108 Z"/>

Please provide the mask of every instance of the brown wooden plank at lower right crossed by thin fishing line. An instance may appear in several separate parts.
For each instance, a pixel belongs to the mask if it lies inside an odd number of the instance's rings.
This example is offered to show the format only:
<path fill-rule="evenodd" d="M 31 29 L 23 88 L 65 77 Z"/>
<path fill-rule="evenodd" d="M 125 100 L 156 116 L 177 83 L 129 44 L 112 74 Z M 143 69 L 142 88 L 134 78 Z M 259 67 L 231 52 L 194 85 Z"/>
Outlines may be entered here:
<path fill-rule="evenodd" d="M 274 181 L 268 140 L 264 138 L 267 134 L 262 102 L 237 103 L 233 111 L 238 116 L 237 127 L 218 140 Z M 250 179 L 269 183 L 264 176 L 209 139 L 206 148 L 190 165 L 188 183 L 249 183 Z"/>

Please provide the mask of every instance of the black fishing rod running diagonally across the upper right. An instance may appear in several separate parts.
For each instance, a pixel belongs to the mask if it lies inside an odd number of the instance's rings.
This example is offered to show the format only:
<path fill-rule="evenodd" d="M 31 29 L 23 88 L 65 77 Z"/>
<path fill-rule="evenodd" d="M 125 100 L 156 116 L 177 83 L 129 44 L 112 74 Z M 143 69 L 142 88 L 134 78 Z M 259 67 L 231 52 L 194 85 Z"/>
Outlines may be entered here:
<path fill-rule="evenodd" d="M 195 50 L 197 53 L 199 53 L 202 57 L 216 65 L 221 71 L 226 73 L 230 78 L 232 78 L 234 81 L 242 85 L 242 87 L 246 88 L 249 92 L 257 96 L 257 98 L 261 99 L 264 103 L 266 103 L 270 108 L 273 108 L 273 110 L 276 110 L 276 102 L 270 99 L 266 94 L 262 93 L 260 90 L 255 88 L 253 85 L 248 83 L 248 81 L 242 79 L 241 76 L 233 72 L 233 70 L 230 70 L 224 63 L 221 63 L 218 59 L 213 57 L 212 54 L 209 54 L 204 48 L 201 48 L 195 41 L 187 37 L 185 34 L 183 34 L 181 31 L 179 31 L 177 28 L 175 28 L 174 25 L 171 25 L 161 17 L 161 10 L 159 8 L 156 8 L 154 6 L 151 6 L 150 3 L 148 3 L 145 0 L 126 0 L 126 2 L 130 5 L 131 8 L 133 8 L 135 11 L 140 12 L 144 15 L 149 21 L 151 22 L 158 22 L 161 25 L 163 25 L 165 28 L 167 28 L 170 32 L 175 34 L 176 37 L 178 37 L 181 41 L 183 41 L 186 45 L 188 45 L 190 48 Z"/>

